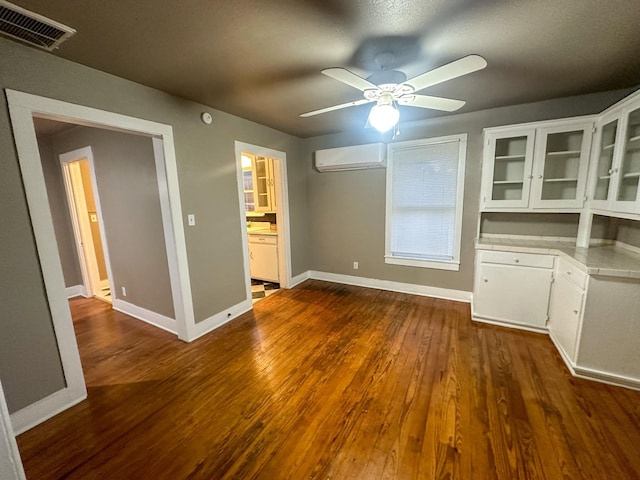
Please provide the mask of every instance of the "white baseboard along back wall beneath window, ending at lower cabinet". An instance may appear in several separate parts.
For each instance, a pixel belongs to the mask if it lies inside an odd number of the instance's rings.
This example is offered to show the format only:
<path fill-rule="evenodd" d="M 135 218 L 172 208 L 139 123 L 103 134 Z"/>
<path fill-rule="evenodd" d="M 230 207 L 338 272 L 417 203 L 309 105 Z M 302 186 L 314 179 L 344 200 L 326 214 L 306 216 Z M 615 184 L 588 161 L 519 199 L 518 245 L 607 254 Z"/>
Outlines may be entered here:
<path fill-rule="evenodd" d="M 447 288 L 416 285 L 413 283 L 392 282 L 390 280 L 356 277 L 353 275 L 342 275 L 339 273 L 317 272 L 315 270 L 310 270 L 308 273 L 309 278 L 316 280 L 326 280 L 328 282 L 344 283 L 347 285 L 356 285 L 358 287 L 377 288 L 380 290 L 389 290 L 391 292 L 409 293 L 412 295 L 421 295 L 423 297 L 434 297 L 442 298 L 444 300 L 471 303 L 471 292 L 465 292 L 463 290 L 450 290 Z"/>

